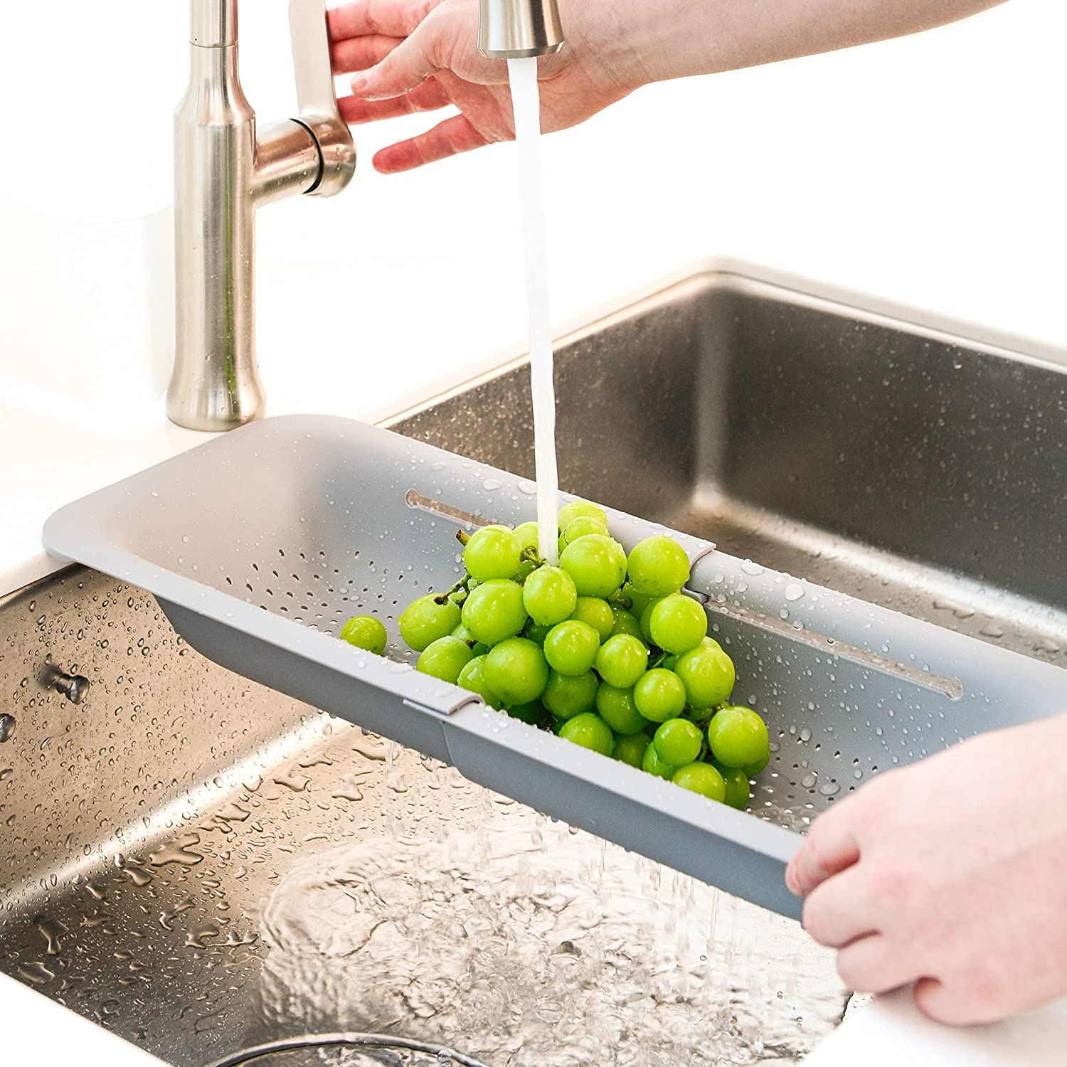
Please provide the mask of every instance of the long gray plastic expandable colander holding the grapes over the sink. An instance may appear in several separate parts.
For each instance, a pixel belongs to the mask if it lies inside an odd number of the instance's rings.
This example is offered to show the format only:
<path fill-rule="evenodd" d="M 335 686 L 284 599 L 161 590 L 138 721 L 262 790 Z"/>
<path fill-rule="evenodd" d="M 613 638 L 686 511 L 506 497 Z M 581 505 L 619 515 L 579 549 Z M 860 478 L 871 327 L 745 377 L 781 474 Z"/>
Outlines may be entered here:
<path fill-rule="evenodd" d="M 774 755 L 750 812 L 509 719 L 415 672 L 396 618 L 461 573 L 457 522 L 509 524 L 534 487 L 387 430 L 267 419 L 68 505 L 48 551 L 152 592 L 195 649 L 250 679 L 453 764 L 548 815 L 783 914 L 798 831 L 879 770 L 1067 706 L 1067 673 L 673 534 Z M 628 550 L 664 527 L 610 512 Z M 672 532 L 672 531 L 671 531 Z M 373 612 L 377 657 L 339 641 Z"/>

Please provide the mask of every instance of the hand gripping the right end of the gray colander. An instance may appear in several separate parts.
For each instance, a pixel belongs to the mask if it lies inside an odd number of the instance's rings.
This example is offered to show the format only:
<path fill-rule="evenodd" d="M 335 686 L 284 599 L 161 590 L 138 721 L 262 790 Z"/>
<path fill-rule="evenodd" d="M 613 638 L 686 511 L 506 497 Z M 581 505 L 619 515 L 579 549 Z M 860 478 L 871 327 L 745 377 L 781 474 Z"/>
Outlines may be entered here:
<path fill-rule="evenodd" d="M 955 1024 L 1067 992 L 1065 746 L 1067 717 L 983 734 L 815 819 L 785 881 L 849 988 Z"/>

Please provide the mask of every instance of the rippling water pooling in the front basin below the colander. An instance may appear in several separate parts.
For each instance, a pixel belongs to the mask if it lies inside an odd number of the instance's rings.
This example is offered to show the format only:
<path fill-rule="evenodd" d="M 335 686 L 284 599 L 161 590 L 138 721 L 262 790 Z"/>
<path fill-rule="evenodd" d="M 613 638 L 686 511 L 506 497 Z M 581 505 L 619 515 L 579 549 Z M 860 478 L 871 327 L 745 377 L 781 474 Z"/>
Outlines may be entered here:
<path fill-rule="evenodd" d="M 832 962 L 796 924 L 391 763 L 409 797 L 385 835 L 296 863 L 264 909 L 268 1031 L 397 1028 L 490 1067 L 711 1067 L 792 1060 L 840 1019 Z M 442 816 L 457 791 L 473 806 Z M 761 1006 L 738 1004 L 738 966 L 765 976 Z M 798 1019 L 786 1005 L 819 972 Z"/>

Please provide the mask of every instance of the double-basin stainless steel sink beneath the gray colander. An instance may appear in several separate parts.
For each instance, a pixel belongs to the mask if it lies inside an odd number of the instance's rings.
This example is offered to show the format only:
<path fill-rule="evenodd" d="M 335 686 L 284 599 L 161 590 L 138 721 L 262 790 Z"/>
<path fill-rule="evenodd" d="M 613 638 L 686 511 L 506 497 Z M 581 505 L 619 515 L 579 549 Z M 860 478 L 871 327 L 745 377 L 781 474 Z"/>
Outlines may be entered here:
<path fill-rule="evenodd" d="M 1062 656 L 1062 369 L 711 273 L 558 385 L 566 489 Z M 522 363 L 393 426 L 532 473 Z M 0 969 L 170 1063 L 338 1031 L 385 1036 L 256 1062 L 777 1063 L 845 1008 L 795 924 L 227 673 L 103 575 L 0 600 Z"/>

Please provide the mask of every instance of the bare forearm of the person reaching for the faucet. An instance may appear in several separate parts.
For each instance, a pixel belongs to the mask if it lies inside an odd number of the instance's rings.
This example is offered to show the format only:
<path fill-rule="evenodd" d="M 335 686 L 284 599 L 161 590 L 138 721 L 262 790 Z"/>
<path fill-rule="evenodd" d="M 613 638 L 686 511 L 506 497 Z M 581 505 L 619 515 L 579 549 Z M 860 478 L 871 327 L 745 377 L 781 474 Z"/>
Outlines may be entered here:
<path fill-rule="evenodd" d="M 632 80 L 646 84 L 905 36 L 1002 2 L 608 0 L 608 5 L 609 17 L 626 42 Z"/>

